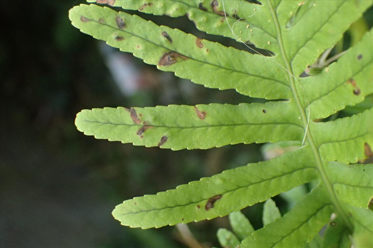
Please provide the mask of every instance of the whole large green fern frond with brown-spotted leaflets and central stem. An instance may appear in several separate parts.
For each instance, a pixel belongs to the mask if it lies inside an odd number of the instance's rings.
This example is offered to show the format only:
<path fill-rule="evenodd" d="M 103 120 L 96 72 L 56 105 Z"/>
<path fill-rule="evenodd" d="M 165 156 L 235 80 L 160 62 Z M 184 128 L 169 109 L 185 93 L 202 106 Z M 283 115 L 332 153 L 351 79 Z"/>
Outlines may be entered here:
<path fill-rule="evenodd" d="M 72 25 L 81 32 L 131 52 L 159 70 L 173 71 L 205 87 L 232 88 L 273 101 L 82 110 L 75 120 L 79 131 L 97 139 L 172 150 L 253 142 L 302 144 L 269 161 L 126 200 L 113 210 L 122 225 L 146 229 L 212 219 L 317 181 L 283 217 L 257 231 L 241 232 L 240 247 L 304 247 L 329 223 L 332 213 L 336 218 L 330 222 L 323 246 L 350 246 L 361 235 L 372 235 L 373 166 L 354 164 L 372 154 L 372 108 L 351 117 L 315 121 L 373 93 L 372 30 L 338 62 L 316 75 L 300 77 L 342 38 L 372 1 L 97 3 L 153 15 L 187 15 L 202 31 L 250 41 L 270 51 L 268 57 L 251 54 L 106 6 L 81 4 L 69 12 Z M 235 215 L 239 214 L 232 218 Z"/>

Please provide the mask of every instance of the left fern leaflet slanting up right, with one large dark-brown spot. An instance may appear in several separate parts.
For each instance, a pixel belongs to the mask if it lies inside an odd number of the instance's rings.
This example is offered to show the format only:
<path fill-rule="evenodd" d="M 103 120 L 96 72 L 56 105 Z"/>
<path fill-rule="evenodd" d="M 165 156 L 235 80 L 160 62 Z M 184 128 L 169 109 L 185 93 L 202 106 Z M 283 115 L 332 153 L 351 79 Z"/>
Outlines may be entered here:
<path fill-rule="evenodd" d="M 122 225 L 146 229 L 228 215 L 314 180 L 316 168 L 309 166 L 310 158 L 298 159 L 304 149 L 307 147 L 156 195 L 126 200 L 115 207 L 113 216 Z M 263 169 L 267 173 L 263 174 Z"/>

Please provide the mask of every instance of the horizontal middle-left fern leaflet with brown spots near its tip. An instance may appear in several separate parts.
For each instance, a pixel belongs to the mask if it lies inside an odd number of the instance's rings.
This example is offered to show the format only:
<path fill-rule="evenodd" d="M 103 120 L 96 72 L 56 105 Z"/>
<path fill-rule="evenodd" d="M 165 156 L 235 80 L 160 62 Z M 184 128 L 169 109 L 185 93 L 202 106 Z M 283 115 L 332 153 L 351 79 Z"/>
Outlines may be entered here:
<path fill-rule="evenodd" d="M 291 111 L 278 116 L 280 109 L 291 110 L 290 105 L 269 102 L 104 108 L 83 110 L 76 116 L 75 124 L 79 131 L 97 139 L 173 150 L 301 140 L 303 128 L 299 119 Z"/>

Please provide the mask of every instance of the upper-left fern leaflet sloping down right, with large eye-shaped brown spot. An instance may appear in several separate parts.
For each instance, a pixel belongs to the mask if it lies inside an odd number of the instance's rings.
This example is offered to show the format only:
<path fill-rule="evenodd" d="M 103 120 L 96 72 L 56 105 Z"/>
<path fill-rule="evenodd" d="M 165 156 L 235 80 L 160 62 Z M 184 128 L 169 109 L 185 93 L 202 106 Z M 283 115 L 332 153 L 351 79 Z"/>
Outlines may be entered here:
<path fill-rule="evenodd" d="M 158 26 L 138 16 L 93 4 L 75 6 L 69 17 L 72 25 L 81 32 L 104 40 L 121 51 L 132 52 L 145 63 L 157 65 L 163 71 L 174 71 L 176 76 L 194 83 L 220 90 L 235 88 L 239 93 L 266 99 L 291 96 L 286 75 L 277 75 L 276 71 L 270 70 L 270 65 L 263 67 L 267 59 L 274 57 L 264 58 L 227 48 L 178 29 Z M 118 26 L 118 20 L 122 28 Z M 138 29 L 138 26 L 142 28 Z M 170 40 L 164 38 L 164 32 Z M 225 80 L 227 74 L 229 81 Z"/>

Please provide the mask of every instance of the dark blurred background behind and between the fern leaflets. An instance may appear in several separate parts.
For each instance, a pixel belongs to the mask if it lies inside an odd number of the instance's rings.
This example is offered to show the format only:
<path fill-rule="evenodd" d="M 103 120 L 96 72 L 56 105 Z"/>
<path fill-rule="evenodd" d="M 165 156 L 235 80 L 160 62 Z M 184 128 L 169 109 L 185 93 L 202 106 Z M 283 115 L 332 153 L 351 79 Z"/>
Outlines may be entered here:
<path fill-rule="evenodd" d="M 76 113 L 260 100 L 176 78 L 79 32 L 68 11 L 80 3 L 0 1 L 1 247 L 186 247 L 175 226 L 131 229 L 111 212 L 123 200 L 261 161 L 261 145 L 191 151 L 132 146 L 83 135 L 74 125 Z M 236 44 L 196 30 L 186 17 L 137 14 Z M 284 212 L 285 201 L 275 200 Z M 261 210 L 262 204 L 243 210 L 255 228 L 262 225 Z M 211 247 L 219 246 L 217 229 L 229 223 L 225 217 L 188 226 Z"/>

